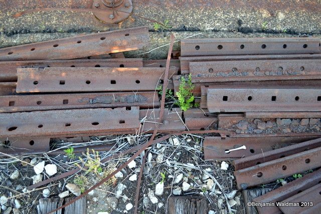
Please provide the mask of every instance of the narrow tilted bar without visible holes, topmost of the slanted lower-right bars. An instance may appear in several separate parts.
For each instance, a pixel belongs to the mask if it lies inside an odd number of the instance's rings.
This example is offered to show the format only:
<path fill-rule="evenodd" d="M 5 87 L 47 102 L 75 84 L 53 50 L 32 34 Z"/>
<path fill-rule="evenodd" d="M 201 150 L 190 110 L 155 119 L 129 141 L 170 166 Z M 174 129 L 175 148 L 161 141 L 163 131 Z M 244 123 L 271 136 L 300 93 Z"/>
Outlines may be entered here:
<path fill-rule="evenodd" d="M 275 160 L 281 157 L 289 156 L 296 154 L 298 152 L 307 151 L 316 147 L 321 146 L 321 138 L 315 139 L 315 137 L 288 137 L 289 139 L 283 138 L 279 141 L 278 147 L 274 147 L 270 150 L 263 150 L 263 153 L 256 152 L 251 156 L 247 156 L 241 159 L 233 161 L 235 170 L 240 170 L 248 168 L 260 163 L 268 162 Z M 269 139 L 272 141 L 272 139 Z M 307 141 L 306 141 L 307 140 Z M 284 142 L 287 142 L 287 145 L 284 145 Z M 305 142 L 304 142 L 305 141 Z M 293 144 L 293 145 L 292 145 Z"/>

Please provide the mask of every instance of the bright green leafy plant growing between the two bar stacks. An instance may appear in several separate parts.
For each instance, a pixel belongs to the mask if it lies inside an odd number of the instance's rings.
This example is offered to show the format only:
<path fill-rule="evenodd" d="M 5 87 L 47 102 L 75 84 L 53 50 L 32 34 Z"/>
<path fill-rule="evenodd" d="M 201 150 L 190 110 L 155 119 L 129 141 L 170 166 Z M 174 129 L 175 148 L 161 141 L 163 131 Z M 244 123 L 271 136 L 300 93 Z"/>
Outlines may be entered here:
<path fill-rule="evenodd" d="M 181 78 L 179 91 L 176 92 L 176 95 L 178 97 L 178 102 L 176 102 L 177 105 L 180 106 L 180 108 L 183 111 L 187 111 L 189 108 L 193 107 L 193 83 L 192 83 L 192 76 L 189 75 L 188 81 L 185 80 L 184 77 Z"/>

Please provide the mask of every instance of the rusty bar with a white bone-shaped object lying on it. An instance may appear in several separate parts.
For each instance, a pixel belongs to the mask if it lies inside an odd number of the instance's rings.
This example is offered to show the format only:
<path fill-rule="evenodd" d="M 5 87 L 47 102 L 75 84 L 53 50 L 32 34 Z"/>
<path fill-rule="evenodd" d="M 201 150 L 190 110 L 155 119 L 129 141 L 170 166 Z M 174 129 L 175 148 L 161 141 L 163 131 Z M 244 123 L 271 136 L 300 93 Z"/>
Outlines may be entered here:
<path fill-rule="evenodd" d="M 315 139 L 315 137 L 262 137 L 262 136 L 251 136 L 251 137 L 205 137 L 203 142 L 204 147 L 204 156 L 205 160 L 231 160 L 231 159 L 239 159 L 242 161 L 243 159 L 251 159 L 255 154 L 264 154 L 268 151 L 276 151 L 274 149 L 286 147 L 292 144 L 300 143 L 305 140 Z M 321 139 L 319 140 L 320 143 L 313 144 L 315 145 L 312 148 L 317 146 L 321 146 Z M 229 151 L 231 149 L 237 149 L 241 146 L 246 146 L 246 149 L 239 149 L 234 151 Z M 301 151 L 301 150 L 298 150 Z M 302 150 L 303 151 L 303 150 Z M 277 156 L 279 158 L 279 156 Z M 262 161 L 260 158 L 256 162 L 251 162 L 251 164 L 246 164 L 246 166 L 242 166 L 241 168 L 250 167 L 257 163 L 262 163 L 269 161 L 269 158 L 265 158 Z M 237 162 L 238 160 L 235 160 Z M 239 165 L 235 165 L 235 170 L 241 169 Z"/>

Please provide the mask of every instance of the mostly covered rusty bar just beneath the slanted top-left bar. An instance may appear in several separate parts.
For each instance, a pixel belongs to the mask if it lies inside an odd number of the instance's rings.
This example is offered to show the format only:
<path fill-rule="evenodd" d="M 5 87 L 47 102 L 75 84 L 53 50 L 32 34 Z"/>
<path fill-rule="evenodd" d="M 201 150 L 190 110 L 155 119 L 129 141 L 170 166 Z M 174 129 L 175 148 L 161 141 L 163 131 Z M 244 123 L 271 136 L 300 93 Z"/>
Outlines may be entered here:
<path fill-rule="evenodd" d="M 18 80 L 17 68 L 45 67 L 142 67 L 142 59 L 42 60 L 0 62 L 0 81 Z"/>

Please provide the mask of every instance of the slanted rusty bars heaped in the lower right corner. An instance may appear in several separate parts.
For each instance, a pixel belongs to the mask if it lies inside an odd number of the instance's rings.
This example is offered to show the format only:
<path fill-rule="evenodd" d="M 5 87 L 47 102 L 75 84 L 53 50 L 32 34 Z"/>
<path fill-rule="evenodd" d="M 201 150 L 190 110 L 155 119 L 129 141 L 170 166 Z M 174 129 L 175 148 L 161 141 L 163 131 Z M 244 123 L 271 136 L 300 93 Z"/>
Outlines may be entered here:
<path fill-rule="evenodd" d="M 246 189 L 302 173 L 303 177 L 254 198 L 251 204 L 258 213 L 317 213 L 321 207 L 320 151 L 321 138 L 316 138 L 234 160 L 237 187 Z"/>

